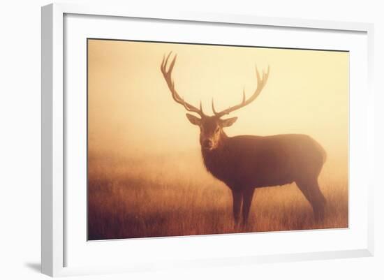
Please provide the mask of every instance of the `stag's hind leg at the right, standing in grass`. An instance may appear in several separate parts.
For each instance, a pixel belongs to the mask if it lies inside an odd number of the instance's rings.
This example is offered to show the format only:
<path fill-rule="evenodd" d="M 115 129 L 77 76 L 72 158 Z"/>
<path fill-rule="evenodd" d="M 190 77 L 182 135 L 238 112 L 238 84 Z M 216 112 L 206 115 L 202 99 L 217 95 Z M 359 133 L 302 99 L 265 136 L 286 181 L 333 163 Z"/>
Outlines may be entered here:
<path fill-rule="evenodd" d="M 311 204 L 316 221 L 323 221 L 326 200 L 320 191 L 317 179 L 300 181 L 296 184 Z"/>

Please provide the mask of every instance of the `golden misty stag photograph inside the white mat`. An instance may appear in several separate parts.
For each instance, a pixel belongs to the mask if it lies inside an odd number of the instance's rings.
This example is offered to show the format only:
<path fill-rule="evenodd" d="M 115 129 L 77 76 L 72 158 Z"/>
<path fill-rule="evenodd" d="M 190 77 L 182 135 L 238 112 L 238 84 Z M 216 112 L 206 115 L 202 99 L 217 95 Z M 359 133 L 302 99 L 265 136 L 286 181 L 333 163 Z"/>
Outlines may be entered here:
<path fill-rule="evenodd" d="M 348 228 L 349 52 L 87 38 L 87 240 Z"/>

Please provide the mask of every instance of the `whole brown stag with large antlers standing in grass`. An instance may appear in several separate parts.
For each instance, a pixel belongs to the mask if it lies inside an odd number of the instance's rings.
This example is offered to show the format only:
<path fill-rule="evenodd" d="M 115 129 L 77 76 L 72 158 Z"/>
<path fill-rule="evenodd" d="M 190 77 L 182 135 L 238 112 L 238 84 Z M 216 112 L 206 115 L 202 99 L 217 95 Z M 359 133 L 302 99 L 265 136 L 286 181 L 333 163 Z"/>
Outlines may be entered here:
<path fill-rule="evenodd" d="M 261 76 L 256 67 L 256 90 L 249 98 L 246 98 L 244 90 L 241 103 L 216 112 L 212 98 L 214 115 L 209 116 L 203 112 L 201 101 L 200 108 L 196 108 L 177 93 L 172 79 L 177 54 L 170 61 L 171 54 L 164 55 L 161 73 L 173 100 L 183 105 L 186 111 L 199 116 L 186 113 L 191 124 L 200 128 L 202 161 L 207 172 L 226 184 L 232 193 L 235 225 L 240 224 L 240 215 L 241 224 L 248 223 L 255 189 L 293 182 L 311 205 L 315 221 L 323 221 L 326 200 L 320 191 L 318 176 L 327 154 L 316 140 L 304 134 L 230 137 L 223 130 L 237 120 L 237 117 L 223 119 L 223 116 L 249 105 L 259 96 L 267 84 L 269 66 Z"/>

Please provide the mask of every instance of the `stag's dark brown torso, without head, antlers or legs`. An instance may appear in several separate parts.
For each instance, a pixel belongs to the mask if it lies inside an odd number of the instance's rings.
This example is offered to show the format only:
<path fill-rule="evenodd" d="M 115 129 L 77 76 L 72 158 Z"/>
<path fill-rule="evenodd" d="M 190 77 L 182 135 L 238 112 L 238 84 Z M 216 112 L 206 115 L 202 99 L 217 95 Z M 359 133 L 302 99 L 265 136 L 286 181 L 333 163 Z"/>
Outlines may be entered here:
<path fill-rule="evenodd" d="M 317 178 L 325 151 L 307 135 L 239 135 L 217 151 L 203 152 L 203 159 L 207 170 L 230 187 L 261 187 Z"/>

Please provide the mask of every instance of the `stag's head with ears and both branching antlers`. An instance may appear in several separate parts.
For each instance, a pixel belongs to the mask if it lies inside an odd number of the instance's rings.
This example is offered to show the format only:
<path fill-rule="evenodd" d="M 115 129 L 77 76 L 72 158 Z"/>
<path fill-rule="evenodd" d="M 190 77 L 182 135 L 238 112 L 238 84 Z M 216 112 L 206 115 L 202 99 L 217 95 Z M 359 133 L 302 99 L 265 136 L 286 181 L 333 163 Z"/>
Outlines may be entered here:
<path fill-rule="evenodd" d="M 214 112 L 213 116 L 205 115 L 204 112 L 202 112 L 202 104 L 200 101 L 200 108 L 196 108 L 195 106 L 187 103 L 184 101 L 183 98 L 177 94 L 177 91 L 175 89 L 175 83 L 172 80 L 172 70 L 176 63 L 176 57 L 172 59 L 170 62 L 170 65 L 168 66 L 168 61 L 170 59 L 172 52 L 168 54 L 167 57 L 163 57 L 163 61 L 161 63 L 161 73 L 163 73 L 165 82 L 167 82 L 168 87 L 170 89 L 170 92 L 172 94 L 172 98 L 179 104 L 183 105 L 184 108 L 189 112 L 195 112 L 200 117 L 196 117 L 195 115 L 186 114 L 186 117 L 189 119 L 191 124 L 195 124 L 196 126 L 200 127 L 200 145 L 202 149 L 205 149 L 207 151 L 212 151 L 213 149 L 216 149 L 219 147 L 221 139 L 223 138 L 223 135 L 225 133 L 223 132 L 223 128 L 227 126 L 232 126 L 232 124 L 235 123 L 237 120 L 237 117 L 232 117 L 229 119 L 222 119 L 224 115 L 228 115 L 230 112 L 233 112 L 239 108 L 242 108 L 258 97 L 262 89 L 264 88 L 268 75 L 269 75 L 269 68 L 267 73 L 263 72 L 263 77 L 260 78 L 260 73 L 258 72 L 256 68 L 256 78 L 258 81 L 258 87 L 256 88 L 255 92 L 252 94 L 252 96 L 248 99 L 246 99 L 245 92 L 243 91 L 243 99 L 242 102 L 232 106 L 226 110 L 223 110 L 221 112 L 216 112 L 214 108 L 214 101 L 212 99 L 212 111 Z M 167 71 L 168 68 L 168 71 Z"/>

